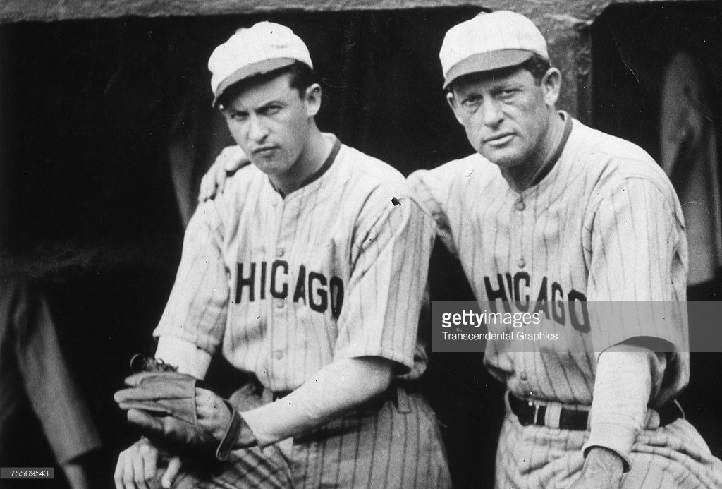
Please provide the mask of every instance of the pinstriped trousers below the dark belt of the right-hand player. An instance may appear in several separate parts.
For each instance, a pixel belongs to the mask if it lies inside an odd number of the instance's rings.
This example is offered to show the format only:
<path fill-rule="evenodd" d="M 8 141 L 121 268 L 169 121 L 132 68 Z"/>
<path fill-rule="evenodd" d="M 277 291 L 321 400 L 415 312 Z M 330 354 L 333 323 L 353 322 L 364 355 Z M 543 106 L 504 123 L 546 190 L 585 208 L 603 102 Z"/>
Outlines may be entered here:
<path fill-rule="evenodd" d="M 496 460 L 498 489 L 567 488 L 580 476 L 588 431 L 522 426 L 508 410 Z M 722 462 L 684 418 L 643 430 L 622 489 L 722 488 Z"/>

